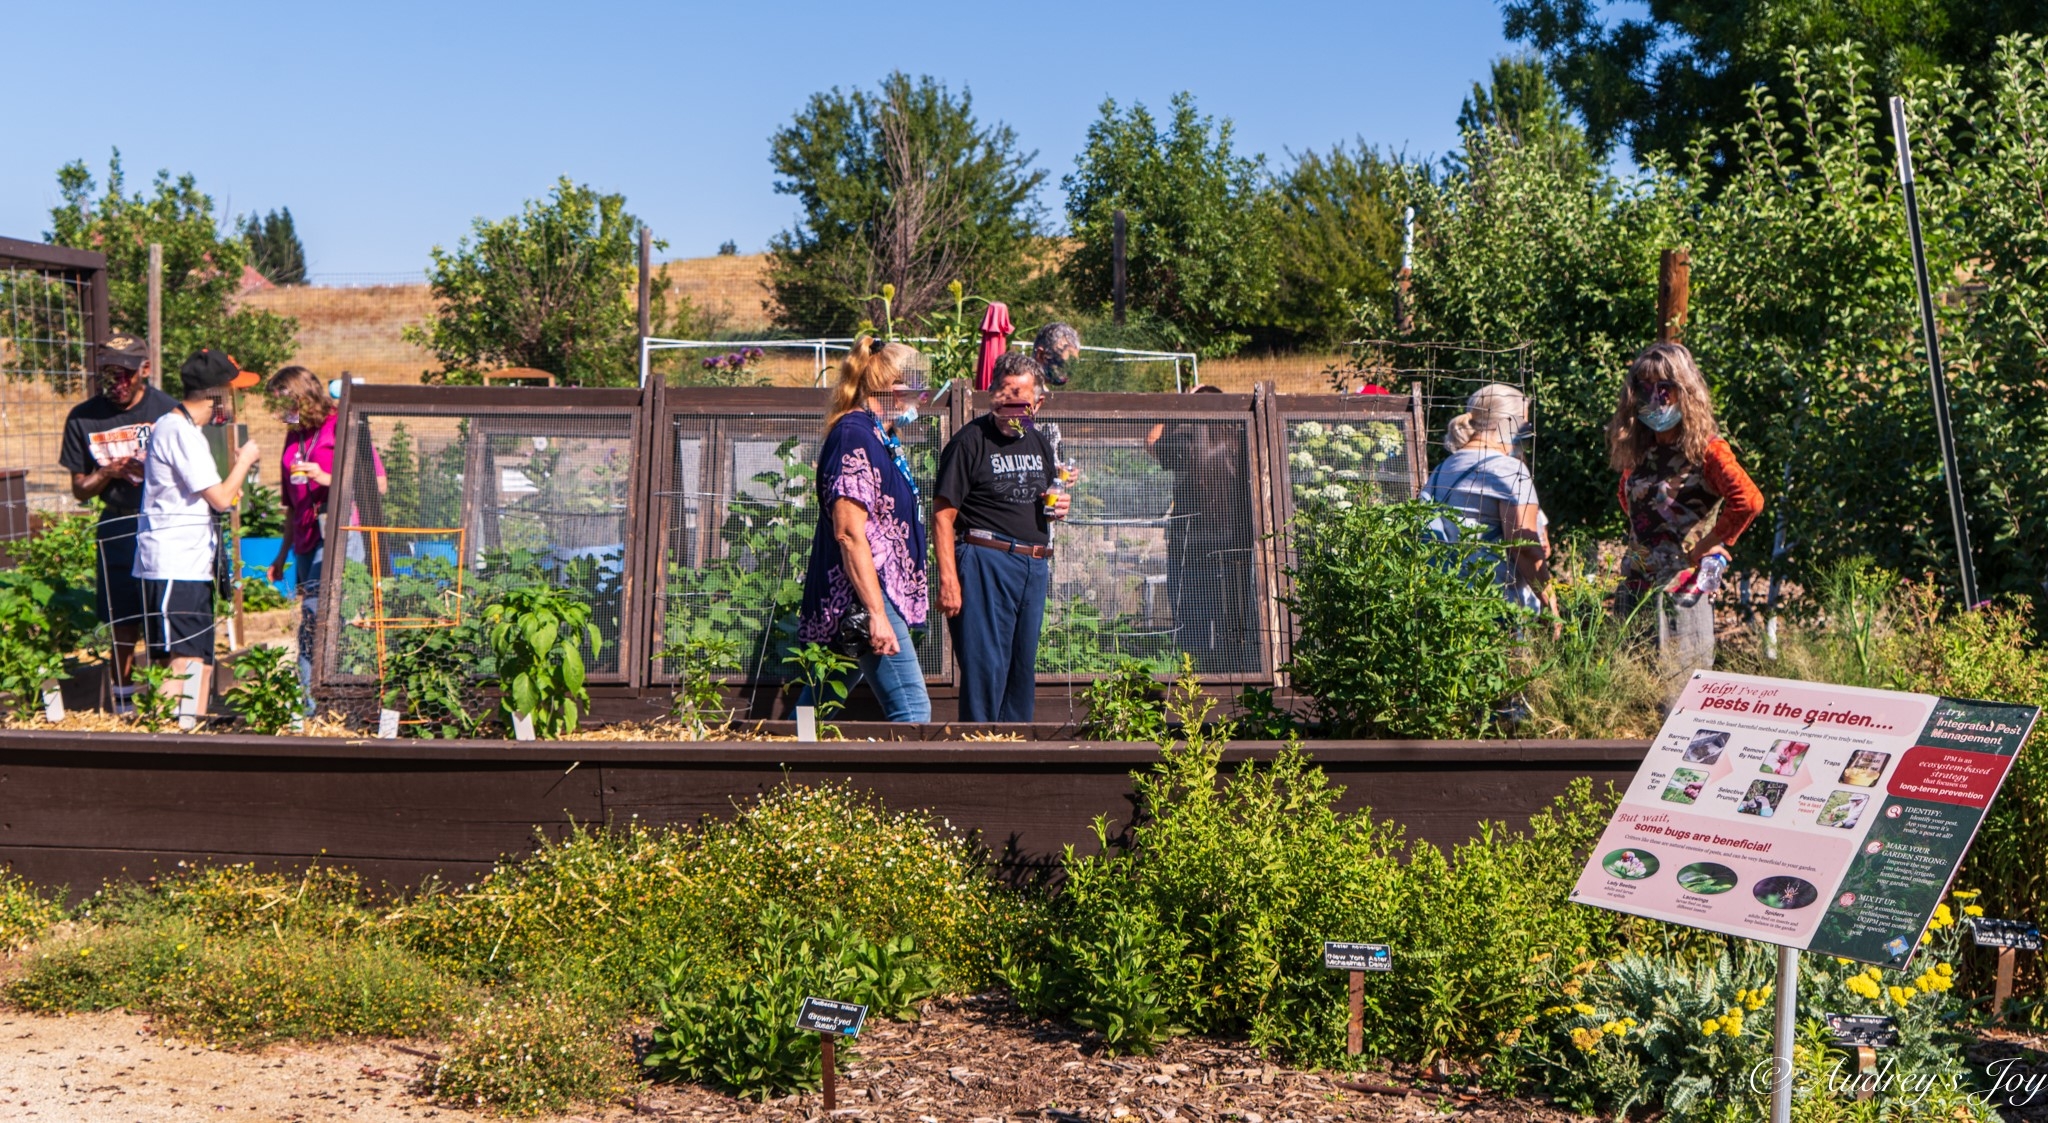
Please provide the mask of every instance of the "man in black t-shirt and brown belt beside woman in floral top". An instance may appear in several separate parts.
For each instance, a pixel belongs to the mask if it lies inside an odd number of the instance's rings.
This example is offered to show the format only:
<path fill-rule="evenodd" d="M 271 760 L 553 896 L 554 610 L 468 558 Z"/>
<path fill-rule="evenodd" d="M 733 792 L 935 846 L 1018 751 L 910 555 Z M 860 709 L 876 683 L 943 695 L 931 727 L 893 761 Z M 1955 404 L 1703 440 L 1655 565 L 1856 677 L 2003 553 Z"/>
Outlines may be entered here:
<path fill-rule="evenodd" d="M 1032 420 L 1044 373 L 1028 355 L 995 361 L 993 412 L 952 434 L 938 457 L 932 543 L 938 607 L 961 666 L 961 721 L 1030 721 L 1038 625 L 1053 582 L 1055 449 Z"/>

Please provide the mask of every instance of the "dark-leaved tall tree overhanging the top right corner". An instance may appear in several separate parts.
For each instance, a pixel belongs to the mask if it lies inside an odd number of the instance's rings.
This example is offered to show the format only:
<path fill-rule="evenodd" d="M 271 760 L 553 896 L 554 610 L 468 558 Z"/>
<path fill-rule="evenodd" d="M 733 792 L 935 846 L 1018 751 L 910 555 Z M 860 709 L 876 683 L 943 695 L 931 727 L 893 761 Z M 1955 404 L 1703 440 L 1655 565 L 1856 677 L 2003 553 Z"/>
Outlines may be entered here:
<path fill-rule="evenodd" d="M 1679 160 L 1706 127 L 1716 164 L 1735 158 L 1726 137 L 1753 86 L 1790 94 L 1788 47 L 1860 43 L 1880 92 L 1944 66 L 1982 90 L 2001 35 L 2048 33 L 2042 0 L 1501 0 L 1501 14 L 1509 39 L 1542 51 L 1597 152 L 1622 141 L 1636 160 Z"/>

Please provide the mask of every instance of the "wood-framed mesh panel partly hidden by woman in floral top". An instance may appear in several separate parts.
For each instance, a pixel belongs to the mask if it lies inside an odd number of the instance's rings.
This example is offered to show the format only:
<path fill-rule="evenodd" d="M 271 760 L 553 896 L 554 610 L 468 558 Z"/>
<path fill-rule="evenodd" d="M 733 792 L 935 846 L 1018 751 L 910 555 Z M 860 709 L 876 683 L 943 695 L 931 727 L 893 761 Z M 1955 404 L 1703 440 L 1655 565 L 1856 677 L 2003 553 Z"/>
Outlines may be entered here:
<path fill-rule="evenodd" d="M 803 578 L 821 516 L 815 482 L 825 396 L 797 389 L 668 389 L 655 496 L 662 533 L 662 594 L 655 676 L 682 674 L 680 646 L 721 643 L 719 672 L 750 682 L 786 678 L 782 658 L 797 637 Z M 903 428 L 903 451 L 924 496 L 932 494 L 944 426 L 928 418 Z M 928 516 L 922 510 L 920 516 Z M 928 678 L 944 674 L 934 605 L 918 643 Z"/>

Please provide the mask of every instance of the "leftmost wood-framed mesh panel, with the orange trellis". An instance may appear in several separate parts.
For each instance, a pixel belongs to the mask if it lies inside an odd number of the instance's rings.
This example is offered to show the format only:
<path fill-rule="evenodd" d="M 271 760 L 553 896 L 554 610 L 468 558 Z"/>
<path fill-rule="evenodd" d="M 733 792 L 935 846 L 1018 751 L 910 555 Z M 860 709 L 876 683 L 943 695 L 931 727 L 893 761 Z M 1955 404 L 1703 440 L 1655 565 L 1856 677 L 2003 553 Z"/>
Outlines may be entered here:
<path fill-rule="evenodd" d="M 637 650 L 627 643 L 637 393 L 352 387 L 350 398 L 330 500 L 326 590 L 338 596 L 324 617 L 324 680 L 389 691 L 393 633 L 432 629 L 449 633 L 471 678 L 489 678 L 475 623 L 522 588 L 588 605 L 600 635 L 584 652 L 590 680 L 625 680 Z M 346 510 L 334 510 L 340 496 Z"/>

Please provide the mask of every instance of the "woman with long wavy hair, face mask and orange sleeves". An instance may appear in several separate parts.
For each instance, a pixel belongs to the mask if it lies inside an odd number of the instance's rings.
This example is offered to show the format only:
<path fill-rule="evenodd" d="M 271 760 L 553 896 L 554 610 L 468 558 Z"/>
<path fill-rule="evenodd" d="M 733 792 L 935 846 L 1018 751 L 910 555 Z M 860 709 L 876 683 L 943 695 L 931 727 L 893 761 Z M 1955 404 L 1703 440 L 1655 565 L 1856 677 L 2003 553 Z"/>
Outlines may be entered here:
<path fill-rule="evenodd" d="M 1651 600 L 1642 607 L 1655 613 L 1665 672 L 1683 682 L 1714 666 L 1714 582 L 1700 586 L 1700 566 L 1710 557 L 1726 566 L 1763 494 L 1720 439 L 1706 379 L 1675 342 L 1653 344 L 1628 365 L 1608 455 L 1628 516 L 1616 609 Z"/>

